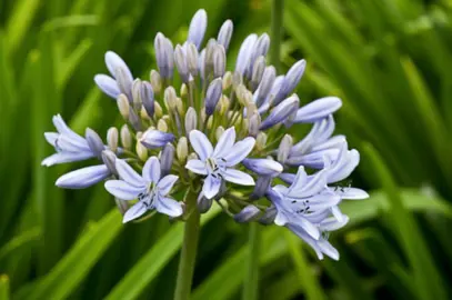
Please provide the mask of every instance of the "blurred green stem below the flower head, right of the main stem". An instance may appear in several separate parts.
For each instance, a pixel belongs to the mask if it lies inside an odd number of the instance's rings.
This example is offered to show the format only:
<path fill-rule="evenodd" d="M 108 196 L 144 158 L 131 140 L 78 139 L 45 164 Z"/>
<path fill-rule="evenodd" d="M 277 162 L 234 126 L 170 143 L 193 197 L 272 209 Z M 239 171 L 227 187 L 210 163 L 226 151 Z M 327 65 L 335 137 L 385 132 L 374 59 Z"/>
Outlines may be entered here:
<path fill-rule="evenodd" d="M 259 257 L 260 257 L 261 232 L 259 223 L 251 222 L 248 240 L 248 268 L 245 282 L 243 284 L 243 300 L 259 299 Z"/>

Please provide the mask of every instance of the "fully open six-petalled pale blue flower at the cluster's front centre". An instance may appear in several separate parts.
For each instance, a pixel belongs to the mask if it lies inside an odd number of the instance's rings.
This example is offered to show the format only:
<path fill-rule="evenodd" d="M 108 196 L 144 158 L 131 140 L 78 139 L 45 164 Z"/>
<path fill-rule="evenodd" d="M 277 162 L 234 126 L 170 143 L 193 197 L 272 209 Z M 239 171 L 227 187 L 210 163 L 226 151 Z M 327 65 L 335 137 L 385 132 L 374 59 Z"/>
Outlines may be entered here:
<path fill-rule="evenodd" d="M 189 160 L 185 168 L 193 173 L 207 176 L 202 187 L 205 198 L 212 199 L 218 194 L 222 180 L 242 186 L 254 186 L 251 176 L 232 169 L 252 151 L 255 143 L 253 138 L 235 142 L 235 129 L 231 127 L 220 137 L 213 149 L 204 133 L 192 130 L 190 143 L 199 159 Z"/>

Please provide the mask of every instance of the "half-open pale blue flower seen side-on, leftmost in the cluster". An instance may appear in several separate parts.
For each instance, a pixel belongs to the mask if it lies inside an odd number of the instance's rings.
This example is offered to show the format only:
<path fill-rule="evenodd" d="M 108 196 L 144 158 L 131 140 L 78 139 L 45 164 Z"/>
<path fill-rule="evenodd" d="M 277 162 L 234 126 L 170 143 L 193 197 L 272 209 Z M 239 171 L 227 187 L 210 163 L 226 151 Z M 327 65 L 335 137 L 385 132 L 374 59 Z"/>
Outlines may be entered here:
<path fill-rule="evenodd" d="M 53 116 L 53 124 L 58 132 L 46 132 L 46 140 L 54 147 L 57 153 L 42 160 L 42 166 L 50 167 L 57 163 L 81 161 L 100 157 L 98 149 L 90 148 L 87 139 L 80 137 L 70 129 L 60 114 Z M 87 136 L 91 137 L 91 131 Z M 97 144 L 96 144 L 97 146 Z"/>

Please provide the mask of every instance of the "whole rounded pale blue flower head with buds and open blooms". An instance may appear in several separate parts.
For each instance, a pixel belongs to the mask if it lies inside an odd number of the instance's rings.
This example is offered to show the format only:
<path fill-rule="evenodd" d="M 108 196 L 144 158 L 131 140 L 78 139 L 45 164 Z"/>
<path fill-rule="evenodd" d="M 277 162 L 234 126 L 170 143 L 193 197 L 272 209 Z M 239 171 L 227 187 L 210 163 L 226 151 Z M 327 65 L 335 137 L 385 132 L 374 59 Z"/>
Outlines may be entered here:
<path fill-rule="evenodd" d="M 325 97 L 301 104 L 293 91 L 305 61 L 278 74 L 267 63 L 265 33 L 248 36 L 235 68 L 227 70 L 232 22 L 208 40 L 205 28 L 205 11 L 199 10 L 182 44 L 158 33 L 158 70 L 148 80 L 134 78 L 108 51 L 109 74 L 97 74 L 94 81 L 115 101 L 125 123 L 110 128 L 104 143 L 91 129 L 84 137 L 73 132 L 58 114 L 57 132 L 44 134 L 56 153 L 42 164 L 97 160 L 63 174 L 57 186 L 84 189 L 103 182 L 123 222 L 152 211 L 183 221 L 185 197 L 194 193 L 201 213 L 217 201 L 238 222 L 287 227 L 320 259 L 339 259 L 328 241 L 330 231 L 349 221 L 339 204 L 368 197 L 337 184 L 360 160 L 344 136 L 333 136 L 332 113 L 341 100 Z M 300 123 L 312 124 L 304 138 L 287 134 Z"/>

